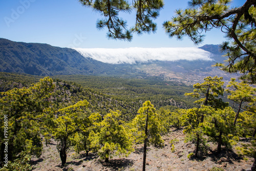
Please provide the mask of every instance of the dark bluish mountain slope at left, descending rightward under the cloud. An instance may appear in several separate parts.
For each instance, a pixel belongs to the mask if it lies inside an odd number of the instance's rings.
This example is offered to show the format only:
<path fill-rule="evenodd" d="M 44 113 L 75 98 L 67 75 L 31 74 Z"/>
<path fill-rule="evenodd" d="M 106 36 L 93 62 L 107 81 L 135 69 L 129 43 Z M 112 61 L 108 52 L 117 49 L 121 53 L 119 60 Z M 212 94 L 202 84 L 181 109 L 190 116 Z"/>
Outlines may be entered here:
<path fill-rule="evenodd" d="M 73 49 L 0 38 L 0 72 L 32 75 L 117 75 L 125 73 L 122 69 L 92 58 L 84 58 Z"/>

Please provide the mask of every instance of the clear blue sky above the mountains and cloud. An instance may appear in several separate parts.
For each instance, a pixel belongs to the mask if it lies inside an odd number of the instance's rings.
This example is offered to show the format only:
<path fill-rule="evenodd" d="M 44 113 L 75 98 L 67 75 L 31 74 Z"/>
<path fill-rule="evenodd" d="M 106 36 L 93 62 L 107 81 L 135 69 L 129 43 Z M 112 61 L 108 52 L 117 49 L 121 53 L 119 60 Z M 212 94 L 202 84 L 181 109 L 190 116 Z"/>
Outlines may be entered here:
<path fill-rule="evenodd" d="M 131 42 L 106 38 L 106 30 L 97 30 L 100 15 L 80 5 L 78 0 L 0 0 L 0 37 L 13 41 L 39 42 L 71 48 L 172 48 L 195 47 L 184 38 L 168 38 L 162 23 L 174 15 L 175 9 L 187 7 L 188 0 L 165 0 L 164 9 L 156 20 L 155 34 L 134 34 Z M 232 7 L 241 6 L 245 0 L 234 0 Z M 127 24 L 134 24 L 134 14 L 121 14 Z M 220 30 L 206 34 L 205 44 L 221 44 L 225 40 Z"/>

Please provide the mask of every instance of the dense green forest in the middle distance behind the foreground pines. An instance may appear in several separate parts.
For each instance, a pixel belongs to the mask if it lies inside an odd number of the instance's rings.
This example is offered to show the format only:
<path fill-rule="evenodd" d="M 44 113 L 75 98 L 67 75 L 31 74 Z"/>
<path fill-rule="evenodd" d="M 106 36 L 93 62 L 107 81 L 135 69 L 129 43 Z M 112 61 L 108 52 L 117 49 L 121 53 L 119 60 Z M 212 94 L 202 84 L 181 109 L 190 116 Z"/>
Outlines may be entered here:
<path fill-rule="evenodd" d="M 29 87 L 42 76 L 0 73 L 1 91 Z M 136 115 L 140 105 L 152 100 L 157 108 L 191 108 L 193 99 L 184 94 L 192 90 L 184 84 L 163 81 L 159 77 L 148 79 L 118 78 L 105 76 L 58 75 L 55 82 L 54 103 L 60 106 L 86 99 L 101 113 L 118 109 L 124 115 Z M 125 107 L 124 107 L 125 106 Z M 95 110 L 96 110 L 95 109 Z M 103 110 L 104 109 L 104 110 Z M 132 117 L 132 116 L 131 116 Z"/>

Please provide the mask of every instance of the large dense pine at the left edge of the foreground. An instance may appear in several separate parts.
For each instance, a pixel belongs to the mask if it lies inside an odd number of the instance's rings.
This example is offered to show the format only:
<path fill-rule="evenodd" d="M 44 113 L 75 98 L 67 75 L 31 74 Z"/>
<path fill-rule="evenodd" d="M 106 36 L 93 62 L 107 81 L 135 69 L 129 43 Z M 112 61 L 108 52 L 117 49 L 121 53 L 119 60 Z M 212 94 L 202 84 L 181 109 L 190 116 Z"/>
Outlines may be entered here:
<path fill-rule="evenodd" d="M 12 89 L 1 93 L 0 98 L 0 131 L 1 161 L 4 156 L 4 142 L 8 140 L 8 160 L 12 161 L 24 151 L 30 155 L 40 156 L 42 143 L 40 125 L 49 117 L 50 97 L 54 90 L 52 79 L 46 77 L 30 88 Z M 1 162 L 3 163 L 3 162 Z"/>

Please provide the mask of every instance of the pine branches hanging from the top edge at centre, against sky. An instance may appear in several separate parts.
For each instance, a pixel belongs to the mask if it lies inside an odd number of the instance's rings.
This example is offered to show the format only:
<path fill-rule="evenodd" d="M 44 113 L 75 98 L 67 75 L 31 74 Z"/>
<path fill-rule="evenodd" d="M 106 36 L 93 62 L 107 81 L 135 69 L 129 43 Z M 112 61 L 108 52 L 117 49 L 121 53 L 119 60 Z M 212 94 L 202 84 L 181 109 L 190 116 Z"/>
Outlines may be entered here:
<path fill-rule="evenodd" d="M 131 41 L 132 32 L 142 34 L 144 32 L 155 32 L 157 25 L 153 22 L 159 15 L 159 11 L 163 8 L 162 0 L 134 0 L 132 5 L 129 1 L 118 0 L 79 0 L 86 7 L 92 7 L 104 16 L 103 19 L 97 21 L 98 29 L 107 28 L 109 38 L 117 38 Z M 131 29 L 127 28 L 126 21 L 118 17 L 119 12 L 130 13 L 132 7 L 136 10 L 136 23 Z"/>

